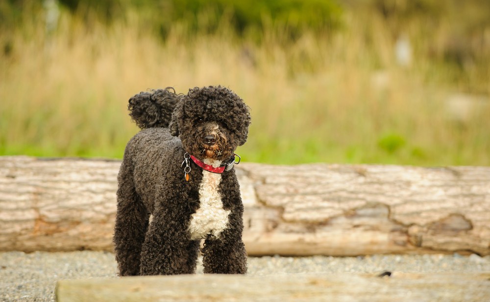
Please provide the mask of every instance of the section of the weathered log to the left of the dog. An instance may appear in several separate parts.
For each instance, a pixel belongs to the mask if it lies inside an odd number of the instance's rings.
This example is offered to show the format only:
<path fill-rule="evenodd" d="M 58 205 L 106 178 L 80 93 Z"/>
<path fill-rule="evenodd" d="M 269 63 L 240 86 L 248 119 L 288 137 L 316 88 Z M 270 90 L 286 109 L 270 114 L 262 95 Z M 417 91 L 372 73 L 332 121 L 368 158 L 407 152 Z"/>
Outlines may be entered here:
<path fill-rule="evenodd" d="M 0 250 L 112 250 L 120 165 L 0 157 Z"/>

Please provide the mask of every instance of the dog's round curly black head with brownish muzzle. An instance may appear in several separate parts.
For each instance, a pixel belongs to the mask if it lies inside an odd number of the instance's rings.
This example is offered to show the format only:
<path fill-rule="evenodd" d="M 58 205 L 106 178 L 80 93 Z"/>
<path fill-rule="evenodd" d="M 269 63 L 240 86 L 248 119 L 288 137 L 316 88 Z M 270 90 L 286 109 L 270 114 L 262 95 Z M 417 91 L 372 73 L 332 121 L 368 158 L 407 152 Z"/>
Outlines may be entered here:
<path fill-rule="evenodd" d="M 180 98 L 170 123 L 184 150 L 200 160 L 224 161 L 245 144 L 250 113 L 243 100 L 228 88 L 193 88 Z"/>

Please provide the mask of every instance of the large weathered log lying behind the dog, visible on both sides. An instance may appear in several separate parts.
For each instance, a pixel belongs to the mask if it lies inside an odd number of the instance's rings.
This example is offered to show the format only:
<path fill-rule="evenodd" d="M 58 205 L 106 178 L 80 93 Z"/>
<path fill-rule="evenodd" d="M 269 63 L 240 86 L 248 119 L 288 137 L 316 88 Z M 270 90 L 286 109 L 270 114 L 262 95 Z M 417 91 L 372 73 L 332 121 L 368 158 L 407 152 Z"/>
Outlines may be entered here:
<path fill-rule="evenodd" d="M 120 161 L 0 157 L 0 250 L 112 250 Z M 490 167 L 236 167 L 249 255 L 490 255 Z"/>

